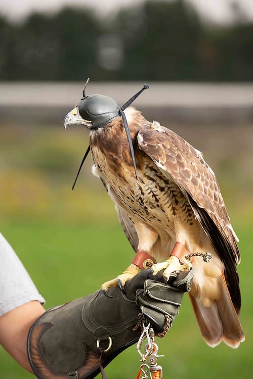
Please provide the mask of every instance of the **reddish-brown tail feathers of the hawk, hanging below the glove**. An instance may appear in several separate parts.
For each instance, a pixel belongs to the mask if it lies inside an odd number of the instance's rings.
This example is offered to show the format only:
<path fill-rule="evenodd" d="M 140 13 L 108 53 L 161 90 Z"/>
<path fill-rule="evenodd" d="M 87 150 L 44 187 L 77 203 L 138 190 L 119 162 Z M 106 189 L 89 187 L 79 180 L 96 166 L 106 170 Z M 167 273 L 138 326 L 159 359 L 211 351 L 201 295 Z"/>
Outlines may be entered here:
<path fill-rule="evenodd" d="M 235 349 L 245 338 L 224 275 L 220 277 L 220 280 L 221 296 L 210 307 L 205 307 L 198 297 L 189 295 L 207 345 L 215 347 L 224 341 L 225 344 Z"/>

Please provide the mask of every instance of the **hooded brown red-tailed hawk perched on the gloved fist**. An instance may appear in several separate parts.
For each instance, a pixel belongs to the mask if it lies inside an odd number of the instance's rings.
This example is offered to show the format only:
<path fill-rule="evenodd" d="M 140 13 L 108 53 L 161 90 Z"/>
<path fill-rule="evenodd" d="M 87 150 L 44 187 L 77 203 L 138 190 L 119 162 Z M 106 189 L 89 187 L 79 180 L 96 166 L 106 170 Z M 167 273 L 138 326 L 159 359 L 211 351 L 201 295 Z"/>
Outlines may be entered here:
<path fill-rule="evenodd" d="M 212 347 L 224 341 L 236 348 L 244 341 L 237 316 L 240 254 L 215 174 L 187 141 L 129 107 L 134 99 L 119 107 L 111 98 L 83 93 L 65 117 L 65 127 L 78 123 L 91 129 L 93 173 L 137 252 L 128 269 L 102 288 L 107 291 L 117 281 L 123 286 L 139 267 L 150 267 L 153 257 L 160 262 L 152 266 L 154 273 L 165 269 L 165 278 L 192 264 L 190 298 L 204 340 Z M 196 252 L 212 259 L 184 259 Z"/>

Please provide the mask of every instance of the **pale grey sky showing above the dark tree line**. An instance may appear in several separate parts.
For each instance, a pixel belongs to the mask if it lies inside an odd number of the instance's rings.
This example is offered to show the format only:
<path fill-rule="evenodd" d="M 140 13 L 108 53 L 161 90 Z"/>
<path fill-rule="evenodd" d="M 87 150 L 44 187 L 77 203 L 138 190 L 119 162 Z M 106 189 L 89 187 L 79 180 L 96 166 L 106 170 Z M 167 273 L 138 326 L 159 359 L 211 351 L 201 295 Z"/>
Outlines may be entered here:
<path fill-rule="evenodd" d="M 170 0 L 168 0 L 170 1 Z M 234 0 L 188 0 L 207 17 L 217 22 L 231 21 L 231 3 Z M 253 0 L 237 0 L 243 13 L 253 19 Z M 10 19 L 18 20 L 31 11 L 51 12 L 63 5 L 89 6 L 101 15 L 117 10 L 122 6 L 141 3 L 142 0 L 0 0 L 0 13 Z M 101 6 L 102 4 L 102 6 Z"/>

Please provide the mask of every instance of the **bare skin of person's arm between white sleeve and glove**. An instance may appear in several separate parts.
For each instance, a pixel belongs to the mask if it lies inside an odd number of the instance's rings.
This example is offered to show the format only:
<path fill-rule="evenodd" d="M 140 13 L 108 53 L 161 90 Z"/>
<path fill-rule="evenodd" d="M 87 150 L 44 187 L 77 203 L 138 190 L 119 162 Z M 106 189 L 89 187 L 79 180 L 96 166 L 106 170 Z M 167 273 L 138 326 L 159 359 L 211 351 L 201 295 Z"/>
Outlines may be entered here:
<path fill-rule="evenodd" d="M 0 344 L 27 371 L 33 373 L 26 352 L 28 331 L 45 312 L 38 301 L 30 301 L 0 317 Z"/>

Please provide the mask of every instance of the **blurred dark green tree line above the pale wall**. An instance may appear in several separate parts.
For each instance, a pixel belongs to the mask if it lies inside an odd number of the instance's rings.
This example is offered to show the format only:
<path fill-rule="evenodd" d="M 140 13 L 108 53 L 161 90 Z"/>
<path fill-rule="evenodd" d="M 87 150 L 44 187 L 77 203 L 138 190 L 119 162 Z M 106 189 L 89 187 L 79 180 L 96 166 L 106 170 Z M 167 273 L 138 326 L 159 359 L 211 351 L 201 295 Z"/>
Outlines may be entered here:
<path fill-rule="evenodd" d="M 186 0 L 129 6 L 107 19 L 90 9 L 0 18 L 1 80 L 247 81 L 253 22 L 233 3 L 234 22 L 199 17 Z"/>

